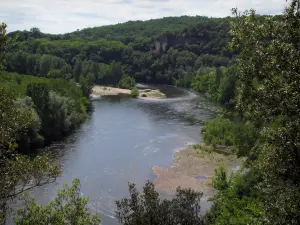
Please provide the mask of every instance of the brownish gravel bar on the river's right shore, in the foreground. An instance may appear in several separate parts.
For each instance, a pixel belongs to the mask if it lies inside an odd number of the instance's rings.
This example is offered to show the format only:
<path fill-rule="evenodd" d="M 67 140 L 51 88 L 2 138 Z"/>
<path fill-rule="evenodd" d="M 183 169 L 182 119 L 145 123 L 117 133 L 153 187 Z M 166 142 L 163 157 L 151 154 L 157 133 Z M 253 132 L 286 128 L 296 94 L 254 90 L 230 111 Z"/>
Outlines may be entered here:
<path fill-rule="evenodd" d="M 202 191 L 204 197 L 214 194 L 211 187 L 214 170 L 221 165 L 236 168 L 241 160 L 234 155 L 225 156 L 211 151 L 205 146 L 188 146 L 175 153 L 173 163 L 169 168 L 153 166 L 156 175 L 154 185 L 157 191 L 172 195 L 178 186 Z"/>

